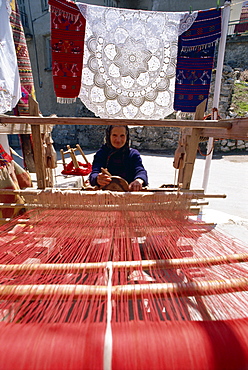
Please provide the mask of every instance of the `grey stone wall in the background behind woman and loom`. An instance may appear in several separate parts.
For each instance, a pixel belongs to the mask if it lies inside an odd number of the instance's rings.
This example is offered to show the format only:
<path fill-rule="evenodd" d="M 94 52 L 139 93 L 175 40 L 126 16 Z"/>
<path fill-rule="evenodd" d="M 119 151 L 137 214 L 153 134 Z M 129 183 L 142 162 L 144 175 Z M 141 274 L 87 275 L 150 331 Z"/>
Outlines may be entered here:
<path fill-rule="evenodd" d="M 235 70 L 228 65 L 223 67 L 223 75 L 221 81 L 221 93 L 219 102 L 219 114 L 226 118 L 232 101 L 232 91 L 235 82 Z M 215 70 L 213 71 L 212 84 L 208 101 L 208 112 L 212 109 L 212 100 L 214 93 Z M 81 107 L 81 105 L 79 105 Z M 78 110 L 78 116 L 92 116 L 92 113 L 82 107 Z M 175 118 L 175 116 L 173 116 Z M 185 117 L 183 117 L 185 118 Z M 192 119 L 191 115 L 186 115 L 186 118 Z M 178 145 L 179 137 L 178 128 L 170 127 L 146 127 L 146 126 L 131 126 L 130 127 L 130 144 L 133 148 L 141 152 L 163 152 L 173 153 Z M 56 126 L 53 130 L 53 139 L 57 149 L 66 148 L 69 144 L 74 147 L 76 144 L 86 150 L 98 149 L 104 141 L 105 127 L 104 126 Z M 206 150 L 206 142 L 200 143 L 200 149 Z M 215 141 L 215 151 L 230 152 L 230 151 L 248 151 L 248 142 L 243 140 L 219 140 Z"/>

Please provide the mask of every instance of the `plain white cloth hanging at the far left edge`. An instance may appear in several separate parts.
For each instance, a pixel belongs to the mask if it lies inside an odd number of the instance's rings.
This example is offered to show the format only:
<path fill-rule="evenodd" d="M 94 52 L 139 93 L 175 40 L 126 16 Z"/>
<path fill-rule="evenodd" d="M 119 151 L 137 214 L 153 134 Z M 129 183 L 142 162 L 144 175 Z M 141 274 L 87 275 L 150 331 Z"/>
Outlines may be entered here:
<path fill-rule="evenodd" d="M 10 25 L 9 0 L 0 1 L 0 113 L 11 111 L 21 97 L 20 76 Z"/>

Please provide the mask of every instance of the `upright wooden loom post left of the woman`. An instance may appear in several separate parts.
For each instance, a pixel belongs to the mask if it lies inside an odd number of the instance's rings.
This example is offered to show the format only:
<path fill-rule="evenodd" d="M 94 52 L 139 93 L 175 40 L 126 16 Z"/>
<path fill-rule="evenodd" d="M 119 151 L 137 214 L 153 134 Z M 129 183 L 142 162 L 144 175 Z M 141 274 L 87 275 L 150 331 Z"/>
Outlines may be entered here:
<path fill-rule="evenodd" d="M 39 104 L 30 95 L 28 97 L 29 115 L 39 116 Z M 46 169 L 43 152 L 43 143 L 39 125 L 31 125 L 34 145 L 34 163 L 37 177 L 37 188 L 45 189 L 46 187 Z"/>

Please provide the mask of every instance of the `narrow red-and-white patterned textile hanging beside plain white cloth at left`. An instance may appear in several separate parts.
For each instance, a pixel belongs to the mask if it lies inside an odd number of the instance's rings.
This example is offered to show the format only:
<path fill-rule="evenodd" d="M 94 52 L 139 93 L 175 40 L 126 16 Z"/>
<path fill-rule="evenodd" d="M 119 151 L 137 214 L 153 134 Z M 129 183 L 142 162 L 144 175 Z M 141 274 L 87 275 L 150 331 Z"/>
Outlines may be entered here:
<path fill-rule="evenodd" d="M 34 81 L 26 38 L 16 1 L 13 1 L 10 24 L 13 31 L 17 64 L 21 80 L 21 99 L 17 104 L 19 115 L 29 115 L 28 96 L 35 98 Z"/>

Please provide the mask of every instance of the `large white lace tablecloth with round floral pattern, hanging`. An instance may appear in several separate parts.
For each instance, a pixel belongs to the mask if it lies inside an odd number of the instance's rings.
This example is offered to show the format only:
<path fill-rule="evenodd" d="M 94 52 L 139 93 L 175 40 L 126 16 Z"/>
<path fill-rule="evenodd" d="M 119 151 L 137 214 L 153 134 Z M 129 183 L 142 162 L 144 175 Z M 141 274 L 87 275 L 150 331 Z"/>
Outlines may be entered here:
<path fill-rule="evenodd" d="M 101 118 L 162 119 L 174 111 L 177 41 L 197 12 L 77 3 L 86 18 L 79 98 Z"/>

